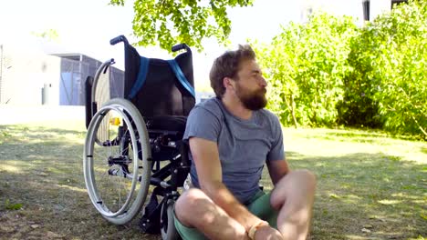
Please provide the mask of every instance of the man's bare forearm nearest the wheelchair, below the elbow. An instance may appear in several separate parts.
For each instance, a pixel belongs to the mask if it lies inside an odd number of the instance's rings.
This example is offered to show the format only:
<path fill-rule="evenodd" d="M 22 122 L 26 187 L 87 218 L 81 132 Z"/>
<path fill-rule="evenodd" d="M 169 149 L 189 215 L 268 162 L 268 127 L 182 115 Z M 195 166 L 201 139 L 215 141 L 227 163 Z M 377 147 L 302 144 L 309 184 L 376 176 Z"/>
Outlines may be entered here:
<path fill-rule="evenodd" d="M 219 205 L 228 215 L 243 225 L 246 231 L 261 221 L 257 216 L 251 214 L 245 205 L 240 204 L 223 183 L 202 187 L 202 190 L 213 200 L 213 203 Z"/>

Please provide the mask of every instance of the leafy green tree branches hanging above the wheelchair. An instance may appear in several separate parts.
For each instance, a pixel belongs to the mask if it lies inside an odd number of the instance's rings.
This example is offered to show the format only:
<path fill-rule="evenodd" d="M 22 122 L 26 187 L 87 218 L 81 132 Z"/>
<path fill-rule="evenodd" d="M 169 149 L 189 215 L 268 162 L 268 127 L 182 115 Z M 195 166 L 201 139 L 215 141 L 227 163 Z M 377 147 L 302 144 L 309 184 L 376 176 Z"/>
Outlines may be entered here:
<path fill-rule="evenodd" d="M 124 5 L 125 0 L 110 0 Z M 135 0 L 133 33 L 138 45 L 156 45 L 171 51 L 185 43 L 202 50 L 202 40 L 215 37 L 225 43 L 231 32 L 227 7 L 252 5 L 252 0 Z"/>

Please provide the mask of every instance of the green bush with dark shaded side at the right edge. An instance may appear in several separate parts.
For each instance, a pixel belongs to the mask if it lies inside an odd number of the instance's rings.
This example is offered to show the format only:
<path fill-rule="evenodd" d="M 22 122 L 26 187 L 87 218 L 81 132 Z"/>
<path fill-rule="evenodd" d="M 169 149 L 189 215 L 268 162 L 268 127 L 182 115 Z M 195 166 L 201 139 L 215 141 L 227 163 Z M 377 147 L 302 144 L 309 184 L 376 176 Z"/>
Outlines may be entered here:
<path fill-rule="evenodd" d="M 358 106 L 365 124 L 427 136 L 426 23 L 427 5 L 410 2 L 367 24 L 351 42 L 344 105 Z"/>

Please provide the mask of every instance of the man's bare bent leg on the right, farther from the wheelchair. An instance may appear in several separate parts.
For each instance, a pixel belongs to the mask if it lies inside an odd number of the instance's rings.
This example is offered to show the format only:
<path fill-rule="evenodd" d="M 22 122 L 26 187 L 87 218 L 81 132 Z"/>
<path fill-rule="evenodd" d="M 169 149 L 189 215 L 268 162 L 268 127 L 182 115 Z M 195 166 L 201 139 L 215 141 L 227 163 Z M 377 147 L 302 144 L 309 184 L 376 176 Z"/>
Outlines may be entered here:
<path fill-rule="evenodd" d="M 279 210 L 277 229 L 285 239 L 306 239 L 316 190 L 316 176 L 291 171 L 276 184 L 270 203 Z"/>

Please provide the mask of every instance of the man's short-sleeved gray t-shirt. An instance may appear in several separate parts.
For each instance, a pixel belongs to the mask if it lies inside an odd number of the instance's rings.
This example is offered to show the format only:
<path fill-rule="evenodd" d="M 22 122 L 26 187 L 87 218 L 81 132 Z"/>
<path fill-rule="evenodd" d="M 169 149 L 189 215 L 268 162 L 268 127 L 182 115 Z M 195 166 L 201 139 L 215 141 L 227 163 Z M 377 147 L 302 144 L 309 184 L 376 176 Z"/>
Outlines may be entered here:
<path fill-rule="evenodd" d="M 223 183 L 242 204 L 259 191 L 266 161 L 285 158 L 276 115 L 262 109 L 243 120 L 231 115 L 216 97 L 195 105 L 188 116 L 183 139 L 193 136 L 217 143 Z M 191 153 L 189 157 L 193 185 L 200 187 Z"/>

